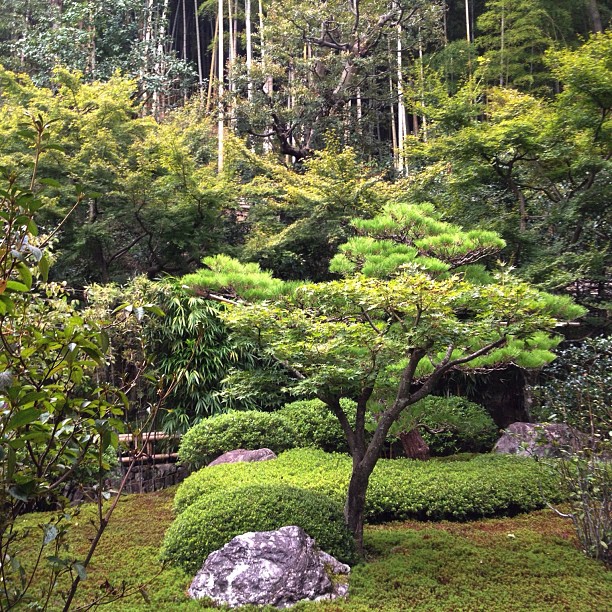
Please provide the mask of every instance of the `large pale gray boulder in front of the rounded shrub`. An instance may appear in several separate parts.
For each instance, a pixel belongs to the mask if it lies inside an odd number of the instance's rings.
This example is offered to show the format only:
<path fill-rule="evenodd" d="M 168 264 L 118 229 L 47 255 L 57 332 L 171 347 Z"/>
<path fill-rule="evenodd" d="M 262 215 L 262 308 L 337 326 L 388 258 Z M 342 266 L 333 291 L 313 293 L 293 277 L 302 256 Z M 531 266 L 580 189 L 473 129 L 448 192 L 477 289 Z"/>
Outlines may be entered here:
<path fill-rule="evenodd" d="M 189 595 L 231 607 L 335 599 L 348 593 L 350 568 L 320 551 L 301 527 L 236 536 L 211 553 Z"/>

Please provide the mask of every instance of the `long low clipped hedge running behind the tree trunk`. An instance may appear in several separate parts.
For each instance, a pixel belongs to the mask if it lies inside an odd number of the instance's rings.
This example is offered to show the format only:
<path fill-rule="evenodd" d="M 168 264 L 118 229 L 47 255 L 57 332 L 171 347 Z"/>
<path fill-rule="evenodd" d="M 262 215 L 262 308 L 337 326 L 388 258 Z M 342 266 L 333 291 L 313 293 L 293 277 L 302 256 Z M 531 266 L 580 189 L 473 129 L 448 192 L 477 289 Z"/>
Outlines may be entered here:
<path fill-rule="evenodd" d="M 187 478 L 175 496 L 184 513 L 202 496 L 223 495 L 236 483 L 284 483 L 344 503 L 351 458 L 318 449 L 292 449 L 274 461 L 219 465 Z M 366 520 L 449 519 L 527 512 L 561 501 L 559 479 L 533 459 L 479 455 L 469 461 L 379 460 L 368 488 Z"/>

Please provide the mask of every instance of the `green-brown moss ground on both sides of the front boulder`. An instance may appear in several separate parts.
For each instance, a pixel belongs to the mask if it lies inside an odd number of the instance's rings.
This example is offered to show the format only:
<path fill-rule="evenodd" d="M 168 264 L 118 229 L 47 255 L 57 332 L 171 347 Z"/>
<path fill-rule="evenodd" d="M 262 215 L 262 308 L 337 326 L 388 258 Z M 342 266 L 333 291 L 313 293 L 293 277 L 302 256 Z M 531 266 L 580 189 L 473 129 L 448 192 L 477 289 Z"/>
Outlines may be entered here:
<path fill-rule="evenodd" d="M 173 518 L 173 492 L 132 495 L 119 502 L 77 604 L 119 591 L 125 582 L 133 594 L 105 609 L 209 609 L 186 598 L 190 576 L 176 568 L 161 568 L 157 561 L 164 531 Z M 72 542 L 77 555 L 83 554 L 93 533 L 88 520 L 92 511 L 84 508 L 75 520 Z M 34 517 L 25 520 L 31 523 Z M 348 600 L 300 604 L 294 609 L 611 609 L 612 572 L 584 557 L 571 523 L 548 510 L 469 523 L 378 525 L 366 529 L 365 543 L 367 563 L 353 568 Z"/>

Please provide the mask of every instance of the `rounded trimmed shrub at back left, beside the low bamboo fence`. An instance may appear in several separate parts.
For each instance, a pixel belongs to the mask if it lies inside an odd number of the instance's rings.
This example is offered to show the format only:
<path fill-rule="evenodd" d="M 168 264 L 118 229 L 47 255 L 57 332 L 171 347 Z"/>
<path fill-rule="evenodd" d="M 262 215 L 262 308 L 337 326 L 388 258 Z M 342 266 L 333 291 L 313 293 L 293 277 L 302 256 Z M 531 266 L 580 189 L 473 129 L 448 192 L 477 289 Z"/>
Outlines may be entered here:
<path fill-rule="evenodd" d="M 179 459 L 202 466 L 237 448 L 269 448 L 279 453 L 294 446 L 291 427 L 277 412 L 228 412 L 194 425 L 181 439 Z"/>

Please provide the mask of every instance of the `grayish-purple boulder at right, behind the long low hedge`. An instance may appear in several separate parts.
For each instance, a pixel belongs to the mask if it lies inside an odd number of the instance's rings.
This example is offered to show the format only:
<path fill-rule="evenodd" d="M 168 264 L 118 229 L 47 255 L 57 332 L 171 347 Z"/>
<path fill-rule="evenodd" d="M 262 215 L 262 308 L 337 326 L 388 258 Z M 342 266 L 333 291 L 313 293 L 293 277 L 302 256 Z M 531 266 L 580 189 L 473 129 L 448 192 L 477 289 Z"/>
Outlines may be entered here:
<path fill-rule="evenodd" d="M 493 448 L 494 453 L 524 457 L 560 457 L 588 444 L 588 437 L 565 423 L 512 423 Z"/>

